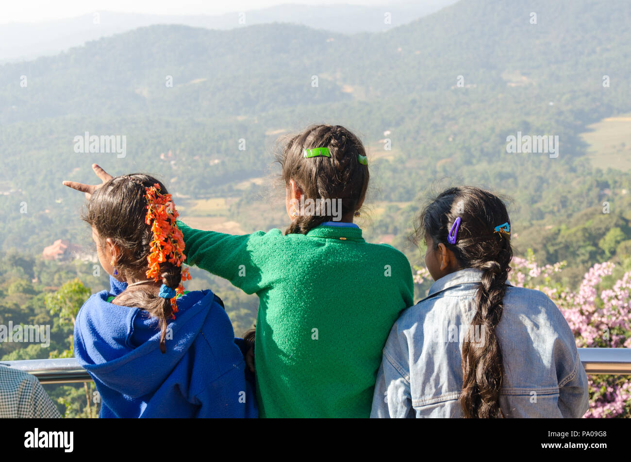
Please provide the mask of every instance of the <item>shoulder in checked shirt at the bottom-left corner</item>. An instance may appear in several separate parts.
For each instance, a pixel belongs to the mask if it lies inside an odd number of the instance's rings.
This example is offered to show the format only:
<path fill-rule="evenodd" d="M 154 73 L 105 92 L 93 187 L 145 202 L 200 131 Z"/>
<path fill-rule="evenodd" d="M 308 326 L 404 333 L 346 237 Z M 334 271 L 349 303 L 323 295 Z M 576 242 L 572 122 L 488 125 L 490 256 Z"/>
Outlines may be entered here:
<path fill-rule="evenodd" d="M 0 365 L 0 418 L 59 418 L 37 377 Z"/>

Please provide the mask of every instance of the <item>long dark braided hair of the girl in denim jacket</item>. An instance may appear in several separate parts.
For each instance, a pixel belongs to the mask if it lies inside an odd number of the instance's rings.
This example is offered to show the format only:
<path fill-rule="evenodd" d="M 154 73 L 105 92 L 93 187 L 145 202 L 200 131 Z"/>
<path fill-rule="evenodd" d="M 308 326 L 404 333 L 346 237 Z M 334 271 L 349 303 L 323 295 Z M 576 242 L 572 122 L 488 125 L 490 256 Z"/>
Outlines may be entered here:
<path fill-rule="evenodd" d="M 447 242 L 452 225 L 460 217 L 456 244 Z M 464 417 L 503 417 L 500 388 L 504 381 L 502 350 L 495 333 L 502 319 L 506 280 L 510 271 L 510 235 L 495 227 L 510 223 L 502 200 L 477 187 L 452 187 L 443 191 L 423 210 L 416 237 L 430 236 L 433 246 L 442 243 L 454 252 L 461 268 L 483 270 L 476 292 L 477 310 L 472 326 L 480 326 L 481 342 L 463 343 L 463 391 L 460 405 Z"/>

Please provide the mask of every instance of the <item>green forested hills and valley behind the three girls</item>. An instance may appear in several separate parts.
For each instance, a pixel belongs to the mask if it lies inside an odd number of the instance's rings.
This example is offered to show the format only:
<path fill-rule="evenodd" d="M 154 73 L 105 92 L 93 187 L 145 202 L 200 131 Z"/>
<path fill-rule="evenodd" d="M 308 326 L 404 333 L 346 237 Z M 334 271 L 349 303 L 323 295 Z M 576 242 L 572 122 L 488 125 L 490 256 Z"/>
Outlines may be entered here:
<path fill-rule="evenodd" d="M 616 147 L 620 162 L 604 162 L 582 135 L 631 112 L 629 23 L 622 0 L 463 0 L 385 33 L 159 25 L 0 66 L 0 323 L 53 326 L 50 348 L 0 343 L 0 359 L 64 354 L 72 323 L 52 299 L 107 287 L 93 263 L 41 258 L 57 239 L 94 252 L 83 196 L 62 180 L 92 181 L 93 162 L 148 172 L 185 221 L 285 227 L 274 154 L 283 136 L 315 122 L 363 139 L 372 180 L 360 224 L 413 266 L 422 263 L 408 239 L 415 217 L 452 184 L 504 194 L 516 254 L 565 261 L 569 287 L 596 263 L 628 266 L 631 144 Z M 125 136 L 126 152 L 78 153 L 73 140 L 86 132 Z M 518 132 L 558 136 L 558 157 L 508 153 Z M 251 327 L 256 297 L 201 271 L 190 287 L 221 295 L 237 335 Z M 86 412 L 72 406 L 69 415 Z"/>

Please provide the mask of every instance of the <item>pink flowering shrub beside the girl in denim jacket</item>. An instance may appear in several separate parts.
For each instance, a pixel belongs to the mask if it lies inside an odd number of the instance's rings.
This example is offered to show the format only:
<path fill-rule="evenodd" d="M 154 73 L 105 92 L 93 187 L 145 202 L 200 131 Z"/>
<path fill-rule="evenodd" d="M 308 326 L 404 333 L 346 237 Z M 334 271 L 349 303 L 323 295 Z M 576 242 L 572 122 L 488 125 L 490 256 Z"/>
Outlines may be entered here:
<path fill-rule="evenodd" d="M 558 278 L 565 262 L 539 266 L 528 252 L 526 258 L 514 257 L 511 267 L 512 285 L 540 290 L 555 302 L 574 332 L 577 347 L 631 348 L 631 271 L 621 273 L 611 262 L 597 263 L 572 290 Z M 415 283 L 426 291 L 431 282 L 427 269 L 415 270 Z M 631 417 L 628 376 L 589 374 L 588 379 L 589 410 L 584 417 Z"/>

